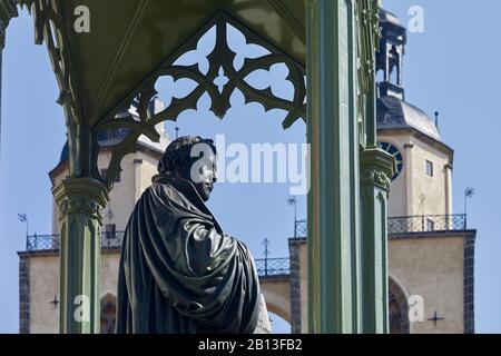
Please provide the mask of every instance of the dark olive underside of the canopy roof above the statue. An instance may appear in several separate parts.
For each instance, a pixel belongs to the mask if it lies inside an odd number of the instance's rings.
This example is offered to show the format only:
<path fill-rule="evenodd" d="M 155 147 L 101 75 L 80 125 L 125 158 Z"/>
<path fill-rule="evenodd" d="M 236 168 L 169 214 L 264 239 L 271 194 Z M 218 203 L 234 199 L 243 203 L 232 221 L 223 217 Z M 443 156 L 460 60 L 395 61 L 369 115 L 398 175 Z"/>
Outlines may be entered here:
<path fill-rule="evenodd" d="M 304 66 L 304 0 L 88 0 L 90 32 L 75 31 L 79 0 L 57 1 L 57 29 L 75 99 L 96 123 L 216 13 L 224 11 Z M 57 27 L 57 26 L 56 26 Z"/>

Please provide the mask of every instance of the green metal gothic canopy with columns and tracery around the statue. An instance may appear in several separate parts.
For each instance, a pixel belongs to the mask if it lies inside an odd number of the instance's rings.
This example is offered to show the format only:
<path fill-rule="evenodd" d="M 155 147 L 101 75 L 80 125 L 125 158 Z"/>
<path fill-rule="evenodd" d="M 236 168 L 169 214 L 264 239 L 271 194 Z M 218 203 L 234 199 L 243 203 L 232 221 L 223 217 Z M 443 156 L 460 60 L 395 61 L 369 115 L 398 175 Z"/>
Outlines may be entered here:
<path fill-rule="evenodd" d="M 99 332 L 101 212 L 121 158 L 140 135 L 158 139 L 155 125 L 176 119 L 204 92 L 223 117 L 234 89 L 265 109 L 286 110 L 284 128 L 298 118 L 307 123 L 310 332 L 387 332 L 386 202 L 394 160 L 376 147 L 379 0 L 0 0 L 0 40 L 16 3 L 30 9 L 36 41 L 47 43 L 68 129 L 69 176 L 53 187 L 62 226 L 61 333 Z M 88 32 L 78 28 L 86 14 Z M 227 23 L 268 53 L 234 68 Z M 176 65 L 213 27 L 208 72 Z M 292 100 L 245 82 L 277 62 L 288 68 Z M 220 69 L 228 81 L 218 90 Z M 151 113 L 163 76 L 198 87 Z M 132 102 L 138 118 L 120 115 Z M 114 147 L 105 178 L 97 136 L 112 128 L 130 131 Z"/>

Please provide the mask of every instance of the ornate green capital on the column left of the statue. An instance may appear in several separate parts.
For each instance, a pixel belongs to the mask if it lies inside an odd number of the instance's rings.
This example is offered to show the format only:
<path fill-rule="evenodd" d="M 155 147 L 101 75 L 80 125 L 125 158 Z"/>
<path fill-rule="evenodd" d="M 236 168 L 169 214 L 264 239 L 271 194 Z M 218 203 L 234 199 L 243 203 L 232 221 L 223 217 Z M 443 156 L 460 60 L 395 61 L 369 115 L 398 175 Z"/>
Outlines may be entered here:
<path fill-rule="evenodd" d="M 106 186 L 91 178 L 67 178 L 52 189 L 52 194 L 60 220 L 69 214 L 89 214 L 100 221 L 108 202 Z"/>

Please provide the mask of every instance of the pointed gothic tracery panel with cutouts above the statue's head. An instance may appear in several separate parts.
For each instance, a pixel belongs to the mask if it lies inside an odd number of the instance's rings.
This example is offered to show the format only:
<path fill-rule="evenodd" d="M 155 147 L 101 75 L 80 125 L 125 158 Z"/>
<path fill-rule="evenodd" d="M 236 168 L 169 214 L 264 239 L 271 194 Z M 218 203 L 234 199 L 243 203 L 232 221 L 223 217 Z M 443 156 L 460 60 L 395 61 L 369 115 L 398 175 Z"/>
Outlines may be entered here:
<path fill-rule="evenodd" d="M 237 31 L 247 43 L 253 46 L 254 52 L 262 56 L 245 56 L 232 48 L 228 32 Z M 215 42 L 209 51 L 200 50 L 202 38 L 209 32 L 215 32 Z M 190 56 L 189 56 L 190 55 Z M 193 60 L 198 55 L 198 60 Z M 181 59 L 191 57 L 190 61 Z M 200 61 L 205 66 L 200 65 Z M 238 61 L 240 63 L 238 63 Z M 294 87 L 292 99 L 276 96 L 272 87 L 256 88 L 247 79 L 259 70 L 269 71 L 275 65 L 285 65 L 288 75 L 285 80 Z M 129 135 L 114 148 L 108 172 L 112 179 L 119 170 L 121 158 L 135 150 L 135 142 L 139 135 L 145 134 L 141 128 L 148 128 L 151 132 L 155 126 L 165 120 L 176 120 L 185 110 L 196 109 L 198 100 L 207 93 L 210 98 L 210 111 L 223 118 L 230 108 L 230 97 L 235 90 L 240 91 L 246 102 L 259 102 L 265 110 L 282 109 L 287 112 L 283 127 L 291 127 L 297 119 L 306 117 L 305 107 L 305 72 L 304 67 L 283 55 L 271 44 L 261 40 L 257 36 L 246 30 L 245 27 L 233 20 L 225 13 L 217 14 L 213 21 L 202 28 L 174 58 L 169 58 L 145 82 L 124 100 L 108 117 L 102 119 L 96 131 L 110 128 L 128 128 Z M 194 83 L 191 91 L 183 97 L 171 97 L 170 103 L 160 112 L 148 110 L 151 100 L 159 93 L 157 83 L 159 80 L 170 77 L 174 82 L 188 80 Z M 136 115 L 129 108 L 135 106 Z M 110 185 L 112 180 L 108 180 Z"/>

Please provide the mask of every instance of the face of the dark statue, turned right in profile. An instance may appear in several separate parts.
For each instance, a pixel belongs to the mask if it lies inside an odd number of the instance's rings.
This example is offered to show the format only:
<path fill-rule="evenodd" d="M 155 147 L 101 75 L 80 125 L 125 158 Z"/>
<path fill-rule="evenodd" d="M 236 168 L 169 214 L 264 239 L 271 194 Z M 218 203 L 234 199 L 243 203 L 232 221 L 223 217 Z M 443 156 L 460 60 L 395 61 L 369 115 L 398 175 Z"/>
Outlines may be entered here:
<path fill-rule="evenodd" d="M 209 149 L 204 152 L 204 157 L 202 159 L 193 164 L 187 172 L 188 177 L 184 177 L 191 181 L 204 201 L 209 199 L 210 192 L 214 189 L 214 184 L 217 180 L 216 161 L 217 156 L 212 149 Z"/>

